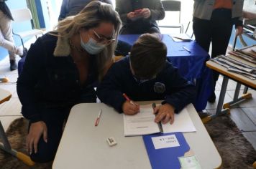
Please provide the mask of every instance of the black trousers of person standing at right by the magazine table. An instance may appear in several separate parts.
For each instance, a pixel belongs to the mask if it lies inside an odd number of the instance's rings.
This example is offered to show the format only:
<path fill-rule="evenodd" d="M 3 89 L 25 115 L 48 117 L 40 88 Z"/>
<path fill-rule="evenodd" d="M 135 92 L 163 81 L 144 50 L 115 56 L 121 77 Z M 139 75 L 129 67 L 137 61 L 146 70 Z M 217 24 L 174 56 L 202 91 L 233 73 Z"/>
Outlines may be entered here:
<path fill-rule="evenodd" d="M 230 9 L 215 9 L 211 20 L 193 18 L 193 32 L 196 42 L 209 52 L 212 44 L 211 58 L 226 54 L 229 38 L 232 32 L 232 11 Z M 219 73 L 213 72 L 214 87 Z"/>

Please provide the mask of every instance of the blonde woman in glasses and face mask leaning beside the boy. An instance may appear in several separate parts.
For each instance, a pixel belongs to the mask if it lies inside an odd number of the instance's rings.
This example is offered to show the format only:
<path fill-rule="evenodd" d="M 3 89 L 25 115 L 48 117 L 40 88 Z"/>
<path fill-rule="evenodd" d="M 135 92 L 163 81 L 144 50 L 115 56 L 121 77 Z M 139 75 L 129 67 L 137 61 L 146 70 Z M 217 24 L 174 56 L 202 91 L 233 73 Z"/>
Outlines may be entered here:
<path fill-rule="evenodd" d="M 92 1 L 29 49 L 17 81 L 22 115 L 29 120 L 32 160 L 53 160 L 70 108 L 96 102 L 93 83 L 111 64 L 121 21 L 109 4 Z"/>

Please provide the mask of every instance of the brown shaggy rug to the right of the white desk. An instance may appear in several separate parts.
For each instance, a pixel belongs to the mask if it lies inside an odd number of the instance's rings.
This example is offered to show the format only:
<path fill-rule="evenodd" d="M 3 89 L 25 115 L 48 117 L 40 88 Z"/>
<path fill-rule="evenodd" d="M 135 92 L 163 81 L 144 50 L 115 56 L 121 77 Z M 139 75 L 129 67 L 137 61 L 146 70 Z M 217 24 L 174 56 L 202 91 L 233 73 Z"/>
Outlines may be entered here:
<path fill-rule="evenodd" d="M 252 168 L 256 161 L 256 150 L 229 115 L 216 117 L 205 126 L 221 155 L 222 168 Z"/>

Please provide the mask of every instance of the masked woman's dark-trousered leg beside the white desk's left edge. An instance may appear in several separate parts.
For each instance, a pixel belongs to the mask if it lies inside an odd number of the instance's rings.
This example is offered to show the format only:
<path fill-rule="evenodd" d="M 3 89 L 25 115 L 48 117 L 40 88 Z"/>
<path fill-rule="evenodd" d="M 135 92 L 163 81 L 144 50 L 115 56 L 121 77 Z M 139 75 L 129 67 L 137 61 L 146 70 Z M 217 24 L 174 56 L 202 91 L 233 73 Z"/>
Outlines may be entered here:
<path fill-rule="evenodd" d="M 45 110 L 42 120 L 47 125 L 47 143 L 40 137 L 37 153 L 32 153 L 30 158 L 36 163 L 46 163 L 55 158 L 55 154 L 63 134 L 63 123 L 68 116 L 67 110 Z"/>

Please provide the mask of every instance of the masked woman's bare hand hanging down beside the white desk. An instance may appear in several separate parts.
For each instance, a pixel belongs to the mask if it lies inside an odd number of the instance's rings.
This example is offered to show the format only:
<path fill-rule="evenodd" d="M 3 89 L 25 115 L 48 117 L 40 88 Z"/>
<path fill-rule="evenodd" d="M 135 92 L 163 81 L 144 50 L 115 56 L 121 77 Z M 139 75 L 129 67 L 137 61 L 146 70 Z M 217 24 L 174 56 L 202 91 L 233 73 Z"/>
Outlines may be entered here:
<path fill-rule="evenodd" d="M 47 126 L 45 122 L 33 122 L 29 128 L 29 134 L 27 135 L 27 150 L 30 154 L 32 154 L 33 148 L 35 150 L 34 153 L 37 153 L 37 144 L 40 140 L 41 135 L 47 143 Z"/>

